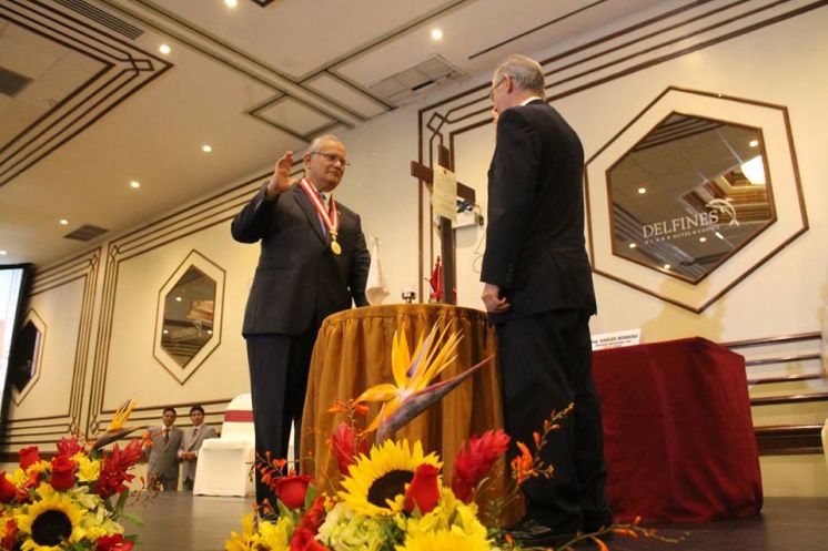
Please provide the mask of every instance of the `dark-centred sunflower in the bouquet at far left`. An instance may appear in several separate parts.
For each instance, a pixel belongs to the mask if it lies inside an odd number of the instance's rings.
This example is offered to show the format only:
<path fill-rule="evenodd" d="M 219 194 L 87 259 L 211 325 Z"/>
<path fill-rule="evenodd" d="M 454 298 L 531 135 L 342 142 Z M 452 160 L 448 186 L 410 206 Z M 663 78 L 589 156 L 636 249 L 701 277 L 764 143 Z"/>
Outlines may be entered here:
<path fill-rule="evenodd" d="M 23 542 L 23 551 L 58 551 L 64 549 L 62 542 L 77 543 L 85 537 L 82 523 L 85 510 L 78 507 L 64 492 L 57 492 L 47 484 L 40 484 L 38 497 L 14 516 L 21 532 L 31 538 Z"/>

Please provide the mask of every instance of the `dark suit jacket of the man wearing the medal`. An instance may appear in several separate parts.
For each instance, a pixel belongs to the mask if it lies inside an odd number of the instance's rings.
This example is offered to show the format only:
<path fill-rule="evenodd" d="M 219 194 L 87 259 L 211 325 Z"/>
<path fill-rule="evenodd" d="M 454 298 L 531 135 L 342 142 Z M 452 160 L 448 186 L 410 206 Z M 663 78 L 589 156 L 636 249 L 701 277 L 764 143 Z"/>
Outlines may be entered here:
<path fill-rule="evenodd" d="M 365 283 L 371 256 L 360 216 L 336 203 L 337 242 L 331 251 L 313 203 L 300 186 L 266 201 L 265 187 L 233 220 L 233 238 L 261 241 L 261 255 L 244 310 L 244 335 L 299 336 L 331 314 L 367 306 Z"/>

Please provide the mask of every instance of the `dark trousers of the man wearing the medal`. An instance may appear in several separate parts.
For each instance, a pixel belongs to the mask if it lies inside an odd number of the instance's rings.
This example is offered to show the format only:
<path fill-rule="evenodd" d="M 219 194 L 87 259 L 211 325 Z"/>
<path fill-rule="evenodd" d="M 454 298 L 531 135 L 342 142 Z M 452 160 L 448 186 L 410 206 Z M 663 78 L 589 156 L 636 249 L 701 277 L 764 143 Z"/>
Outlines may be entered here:
<path fill-rule="evenodd" d="M 256 460 L 264 458 L 269 451 L 273 459 L 287 459 L 291 426 L 294 429 L 294 459 L 299 459 L 302 409 L 316 331 L 316 327 L 312 327 L 299 337 L 245 336 Z M 275 493 L 267 484 L 262 483 L 256 470 L 256 503 L 262 504 L 265 500 L 275 509 Z"/>

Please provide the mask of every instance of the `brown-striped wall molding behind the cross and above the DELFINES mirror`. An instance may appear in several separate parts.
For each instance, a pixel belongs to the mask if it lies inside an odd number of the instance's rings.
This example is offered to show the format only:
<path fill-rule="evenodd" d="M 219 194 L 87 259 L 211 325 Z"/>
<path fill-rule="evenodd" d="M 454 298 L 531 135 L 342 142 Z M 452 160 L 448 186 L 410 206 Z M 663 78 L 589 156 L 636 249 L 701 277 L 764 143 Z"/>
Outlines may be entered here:
<path fill-rule="evenodd" d="M 546 100 L 555 102 L 576 95 L 826 6 L 828 0 L 689 2 L 541 60 L 546 74 Z M 418 110 L 421 163 L 433 165 L 440 145 L 447 145 L 454 155 L 458 136 L 492 123 L 488 89 L 489 83 L 484 83 Z M 425 207 L 426 201 L 427 192 L 421 186 L 417 252 L 421 299 L 424 271 L 434 258 L 434 229 L 428 222 L 432 216 L 430 207 Z"/>

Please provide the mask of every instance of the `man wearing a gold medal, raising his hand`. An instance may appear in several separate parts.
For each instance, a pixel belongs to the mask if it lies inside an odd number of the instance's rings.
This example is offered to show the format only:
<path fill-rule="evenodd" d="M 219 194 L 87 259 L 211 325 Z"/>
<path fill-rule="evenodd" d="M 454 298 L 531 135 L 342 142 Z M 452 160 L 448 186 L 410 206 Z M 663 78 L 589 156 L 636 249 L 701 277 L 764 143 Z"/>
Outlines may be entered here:
<path fill-rule="evenodd" d="M 304 156 L 305 176 L 291 180 L 293 152 L 232 223 L 233 237 L 261 242 L 261 255 L 244 312 L 256 453 L 284 458 L 291 424 L 299 453 L 311 353 L 322 320 L 367 306 L 371 256 L 360 216 L 331 192 L 347 165 L 339 137 L 315 139 Z M 256 502 L 272 492 L 256 472 Z"/>

